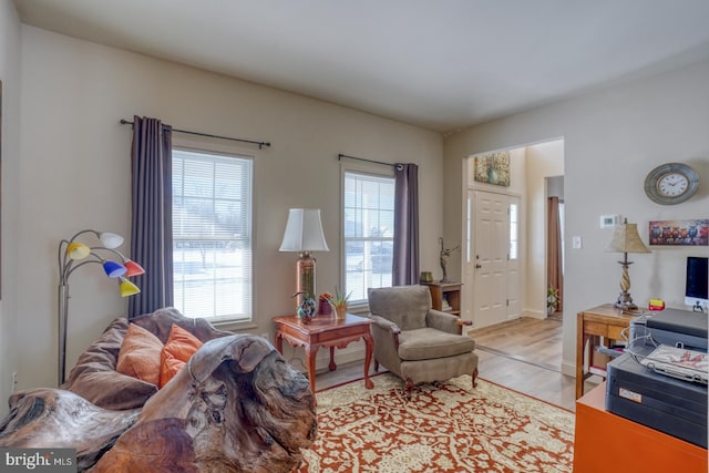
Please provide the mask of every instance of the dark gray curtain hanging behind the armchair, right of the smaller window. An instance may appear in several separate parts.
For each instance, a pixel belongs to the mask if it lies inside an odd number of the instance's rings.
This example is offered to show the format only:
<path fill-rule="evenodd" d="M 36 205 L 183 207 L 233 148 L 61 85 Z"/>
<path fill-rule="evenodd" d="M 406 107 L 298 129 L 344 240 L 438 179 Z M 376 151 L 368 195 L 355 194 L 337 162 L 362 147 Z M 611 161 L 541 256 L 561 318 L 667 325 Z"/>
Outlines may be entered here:
<path fill-rule="evenodd" d="M 419 166 L 397 164 L 392 286 L 419 282 Z"/>

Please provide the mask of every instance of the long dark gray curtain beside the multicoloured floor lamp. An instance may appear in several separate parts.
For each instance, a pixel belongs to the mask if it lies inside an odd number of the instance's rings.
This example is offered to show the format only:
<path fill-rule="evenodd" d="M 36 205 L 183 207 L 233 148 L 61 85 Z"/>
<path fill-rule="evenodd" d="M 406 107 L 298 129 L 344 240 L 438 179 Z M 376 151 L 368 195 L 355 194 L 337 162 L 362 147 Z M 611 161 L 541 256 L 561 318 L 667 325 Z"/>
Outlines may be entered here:
<path fill-rule="evenodd" d="M 133 117 L 131 257 L 145 268 L 129 318 L 173 305 L 172 126 Z"/>

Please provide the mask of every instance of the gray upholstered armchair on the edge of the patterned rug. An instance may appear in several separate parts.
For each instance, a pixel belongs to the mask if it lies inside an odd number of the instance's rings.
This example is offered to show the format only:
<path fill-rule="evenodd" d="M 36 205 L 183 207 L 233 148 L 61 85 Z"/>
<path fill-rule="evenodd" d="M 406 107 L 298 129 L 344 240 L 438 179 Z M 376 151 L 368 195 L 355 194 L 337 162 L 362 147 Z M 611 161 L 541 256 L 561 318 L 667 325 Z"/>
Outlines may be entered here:
<path fill-rule="evenodd" d="M 381 363 L 402 378 L 409 397 L 415 384 L 461 374 L 471 374 L 473 388 L 477 384 L 475 341 L 461 335 L 470 321 L 432 309 L 428 287 L 370 288 L 369 311 L 374 370 Z"/>

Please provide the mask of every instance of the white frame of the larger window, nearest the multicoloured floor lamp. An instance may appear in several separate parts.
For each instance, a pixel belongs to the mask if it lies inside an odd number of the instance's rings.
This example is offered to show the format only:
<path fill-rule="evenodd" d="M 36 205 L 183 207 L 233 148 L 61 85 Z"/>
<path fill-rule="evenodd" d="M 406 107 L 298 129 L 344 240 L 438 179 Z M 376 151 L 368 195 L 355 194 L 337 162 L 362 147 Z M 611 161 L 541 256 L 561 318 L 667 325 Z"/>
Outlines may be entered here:
<path fill-rule="evenodd" d="M 228 145 L 225 146 L 217 143 L 205 143 L 203 140 L 194 140 L 194 138 L 191 140 L 185 137 L 182 137 L 181 140 L 179 138 L 176 140 L 175 136 L 173 136 L 172 151 L 205 154 L 205 155 L 224 157 L 224 158 L 237 158 L 248 163 L 248 169 L 249 169 L 249 179 L 248 179 L 249 203 L 248 204 L 249 205 L 247 206 L 247 209 L 246 209 L 246 213 L 248 214 L 248 216 L 246 217 L 246 228 L 248 228 L 247 233 L 249 236 L 249 240 L 247 241 L 248 249 L 249 249 L 249 255 L 248 255 L 249 268 L 247 271 L 245 270 L 247 275 L 246 277 L 248 277 L 248 282 L 246 282 L 245 285 L 247 286 L 245 288 L 245 291 L 249 292 L 248 294 L 249 307 L 247 308 L 243 317 L 235 317 L 235 315 L 227 315 L 227 316 L 220 316 L 220 317 L 204 317 L 204 318 L 215 327 L 225 329 L 225 330 L 229 328 L 251 327 L 255 323 L 255 313 L 256 313 L 256 307 L 255 307 L 256 306 L 256 300 L 255 300 L 255 294 L 256 294 L 255 266 L 256 265 L 254 261 L 255 254 L 256 254 L 256 248 L 255 248 L 256 156 L 253 153 L 249 153 L 236 146 L 228 146 Z M 172 153 L 171 153 L 171 160 L 173 160 Z M 173 161 L 173 165 L 174 165 L 174 161 Z M 174 173 L 174 169 L 173 169 L 173 173 Z M 173 195 L 173 198 L 174 198 L 174 195 Z M 172 209 L 172 212 L 174 217 L 174 208 Z M 175 240 L 175 236 L 173 233 L 173 245 L 174 245 L 174 240 Z M 173 268 L 173 274 L 174 274 L 174 268 Z M 173 281 L 173 285 L 176 286 L 176 284 L 177 284 L 177 279 L 175 278 L 175 280 Z M 189 315 L 185 313 L 185 317 L 189 317 Z M 203 317 L 203 316 L 195 316 L 195 317 Z"/>

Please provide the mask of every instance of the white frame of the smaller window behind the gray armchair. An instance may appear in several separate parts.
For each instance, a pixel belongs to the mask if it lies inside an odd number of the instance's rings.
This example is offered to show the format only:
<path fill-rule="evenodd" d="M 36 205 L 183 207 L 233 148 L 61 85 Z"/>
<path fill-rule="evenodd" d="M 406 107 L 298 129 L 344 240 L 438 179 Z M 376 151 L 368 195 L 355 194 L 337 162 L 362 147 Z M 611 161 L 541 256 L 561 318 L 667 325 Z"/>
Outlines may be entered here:
<path fill-rule="evenodd" d="M 387 172 L 387 168 L 389 168 L 389 172 Z M 348 173 L 352 173 L 352 174 L 359 174 L 359 175 L 364 175 L 364 176 L 371 176 L 374 178 L 387 178 L 387 179 L 391 179 L 392 181 L 392 186 L 393 192 L 395 194 L 395 175 L 394 175 L 394 167 L 393 166 L 388 166 L 388 165 L 382 165 L 379 163 L 366 163 L 366 162 L 348 162 L 345 163 L 342 162 L 340 165 L 340 175 L 341 175 L 341 191 L 340 191 L 340 288 L 343 288 L 343 290 L 349 294 L 349 291 L 351 289 L 347 288 L 347 238 L 346 238 L 346 220 L 347 220 L 347 213 L 346 213 L 346 181 L 347 181 L 347 174 Z M 392 206 L 392 212 L 394 210 L 393 206 Z M 384 238 L 382 240 L 389 241 L 391 240 L 392 244 L 392 256 L 393 256 L 393 239 L 394 239 L 394 228 L 393 228 L 393 218 L 392 218 L 392 228 L 391 228 L 391 233 L 392 236 L 391 238 Z M 373 241 L 374 239 L 372 239 L 371 237 L 362 237 L 362 241 Z M 393 270 L 391 271 L 391 277 L 393 278 Z M 388 287 L 388 286 L 381 286 L 381 287 Z M 364 298 L 363 299 L 354 299 L 350 301 L 350 310 L 354 311 L 354 312 L 364 312 L 368 310 L 369 307 L 369 300 L 367 298 L 367 288 L 364 288 Z"/>

